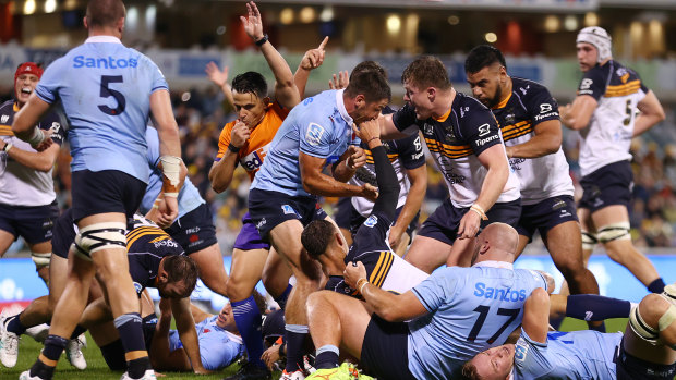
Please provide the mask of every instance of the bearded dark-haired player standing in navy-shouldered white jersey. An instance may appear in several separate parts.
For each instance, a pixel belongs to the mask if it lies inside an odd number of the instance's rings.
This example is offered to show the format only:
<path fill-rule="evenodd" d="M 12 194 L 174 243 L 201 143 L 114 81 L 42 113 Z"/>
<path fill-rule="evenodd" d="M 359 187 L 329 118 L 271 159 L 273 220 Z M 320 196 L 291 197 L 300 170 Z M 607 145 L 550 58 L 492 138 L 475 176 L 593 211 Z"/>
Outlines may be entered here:
<path fill-rule="evenodd" d="M 521 181 L 517 257 L 538 230 L 570 293 L 599 294 L 596 279 L 582 259 L 556 100 L 541 84 L 507 75 L 503 53 L 490 45 L 470 51 L 464 72 L 474 97 L 495 114 L 509 164 Z"/>

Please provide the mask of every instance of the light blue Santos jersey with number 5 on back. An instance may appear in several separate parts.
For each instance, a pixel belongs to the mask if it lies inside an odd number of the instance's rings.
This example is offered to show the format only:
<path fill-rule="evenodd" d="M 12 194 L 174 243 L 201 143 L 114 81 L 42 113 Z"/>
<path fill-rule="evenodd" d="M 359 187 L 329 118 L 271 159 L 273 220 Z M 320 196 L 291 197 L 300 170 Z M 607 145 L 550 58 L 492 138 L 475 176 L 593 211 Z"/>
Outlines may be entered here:
<path fill-rule="evenodd" d="M 71 171 L 119 170 L 147 182 L 145 130 L 156 90 L 168 86 L 150 59 L 116 37 L 96 36 L 51 63 L 35 94 L 63 106 Z"/>

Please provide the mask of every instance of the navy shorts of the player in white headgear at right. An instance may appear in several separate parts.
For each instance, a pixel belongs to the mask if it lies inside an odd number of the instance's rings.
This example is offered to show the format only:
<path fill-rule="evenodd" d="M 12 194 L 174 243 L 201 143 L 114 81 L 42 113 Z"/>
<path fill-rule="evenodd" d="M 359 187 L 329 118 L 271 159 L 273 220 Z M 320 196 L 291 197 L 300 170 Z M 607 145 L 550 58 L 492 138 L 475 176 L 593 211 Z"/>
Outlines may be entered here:
<path fill-rule="evenodd" d="M 633 173 L 629 161 L 618 161 L 596 170 L 580 180 L 582 199 L 578 208 L 587 208 L 592 213 L 604 207 L 623 205 L 629 208 Z"/>

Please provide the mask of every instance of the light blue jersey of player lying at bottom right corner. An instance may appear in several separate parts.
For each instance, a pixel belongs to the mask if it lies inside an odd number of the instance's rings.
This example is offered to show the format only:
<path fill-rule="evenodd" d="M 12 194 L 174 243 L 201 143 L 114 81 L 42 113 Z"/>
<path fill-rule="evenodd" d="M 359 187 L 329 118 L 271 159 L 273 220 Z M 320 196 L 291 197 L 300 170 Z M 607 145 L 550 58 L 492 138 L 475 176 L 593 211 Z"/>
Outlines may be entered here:
<path fill-rule="evenodd" d="M 547 333 L 547 343 L 521 330 L 515 347 L 514 379 L 617 379 L 613 358 L 623 333 L 574 331 Z"/>

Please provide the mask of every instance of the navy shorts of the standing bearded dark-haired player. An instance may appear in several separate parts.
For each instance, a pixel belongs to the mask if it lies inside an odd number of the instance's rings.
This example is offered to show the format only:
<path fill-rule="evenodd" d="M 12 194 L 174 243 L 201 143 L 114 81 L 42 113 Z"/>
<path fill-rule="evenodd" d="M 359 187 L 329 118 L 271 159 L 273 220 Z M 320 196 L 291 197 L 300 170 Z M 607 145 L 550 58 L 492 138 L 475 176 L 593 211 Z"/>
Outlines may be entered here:
<path fill-rule="evenodd" d="M 569 195 L 544 199 L 535 205 L 521 206 L 521 218 L 517 225 L 519 235 L 532 241 L 535 230 L 546 238 L 547 232 L 558 224 L 578 221 L 575 200 Z"/>

